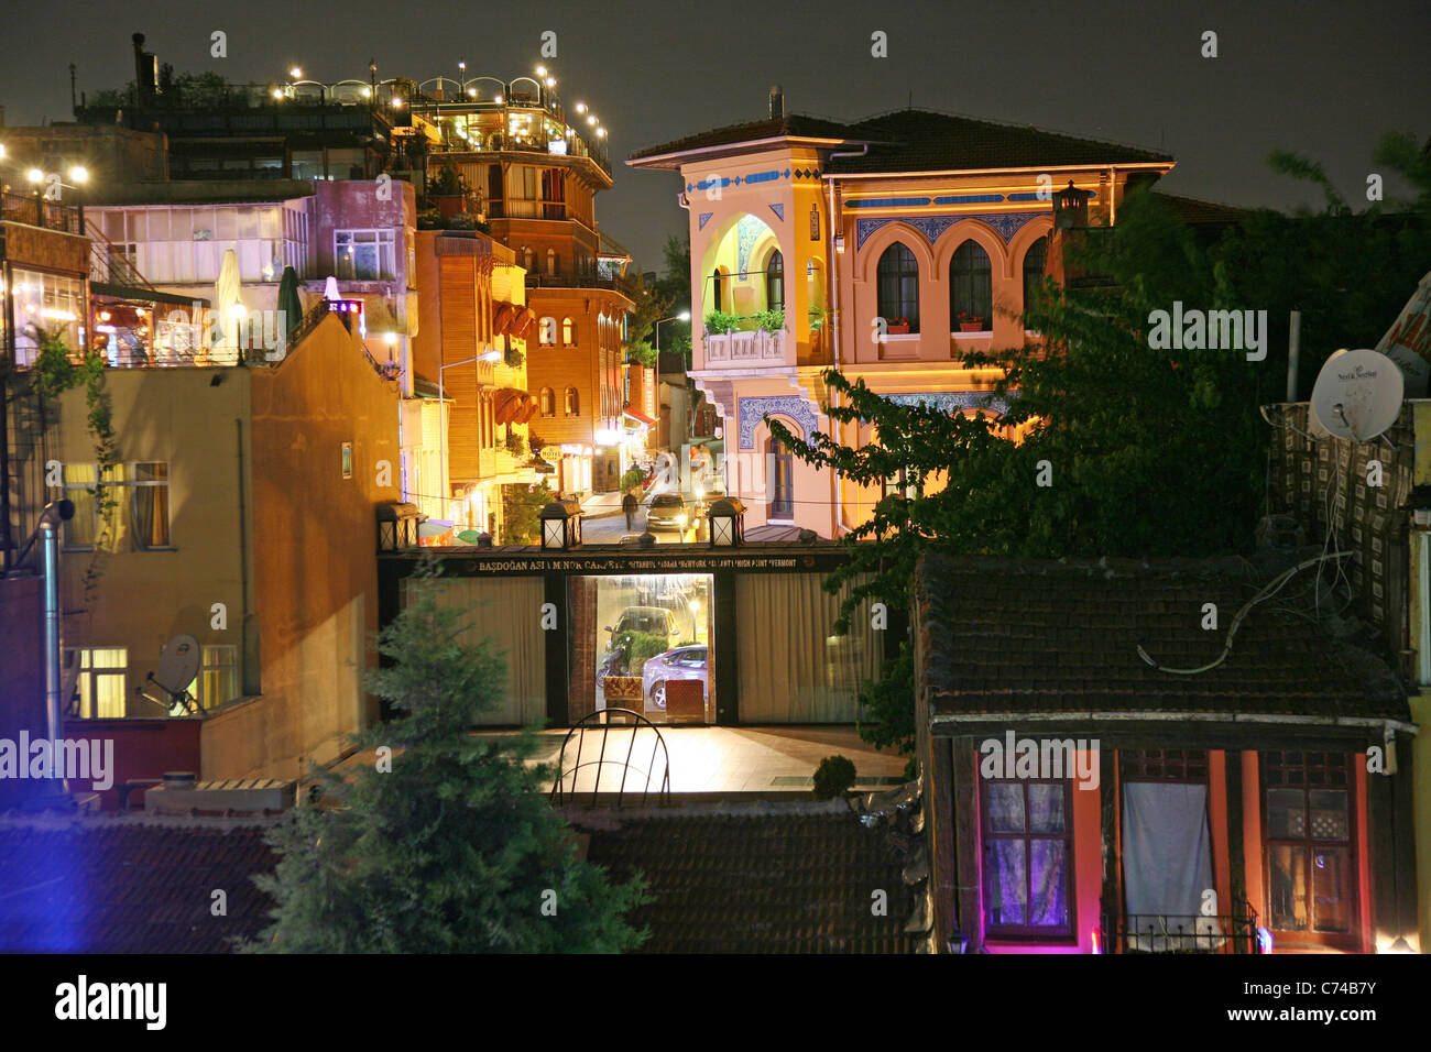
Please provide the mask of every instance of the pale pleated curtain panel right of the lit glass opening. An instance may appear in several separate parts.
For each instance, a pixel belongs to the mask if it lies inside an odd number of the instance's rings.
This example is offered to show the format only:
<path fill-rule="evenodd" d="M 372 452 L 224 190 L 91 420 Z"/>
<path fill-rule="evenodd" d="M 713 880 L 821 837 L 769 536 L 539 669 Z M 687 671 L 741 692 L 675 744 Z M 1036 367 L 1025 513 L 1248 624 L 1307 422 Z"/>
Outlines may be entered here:
<path fill-rule="evenodd" d="M 741 723 L 854 723 L 860 684 L 876 678 L 879 637 L 869 603 L 834 635 L 840 597 L 824 574 L 736 578 Z"/>

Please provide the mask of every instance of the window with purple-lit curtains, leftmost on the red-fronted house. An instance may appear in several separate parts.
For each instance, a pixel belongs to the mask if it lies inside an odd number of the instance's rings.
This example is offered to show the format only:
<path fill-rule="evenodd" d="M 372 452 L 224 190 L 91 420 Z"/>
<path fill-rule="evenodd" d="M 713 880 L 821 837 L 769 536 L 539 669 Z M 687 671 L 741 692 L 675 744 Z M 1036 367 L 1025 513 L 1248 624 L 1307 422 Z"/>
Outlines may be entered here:
<path fill-rule="evenodd" d="M 1072 781 L 979 783 L 989 937 L 1073 935 Z"/>

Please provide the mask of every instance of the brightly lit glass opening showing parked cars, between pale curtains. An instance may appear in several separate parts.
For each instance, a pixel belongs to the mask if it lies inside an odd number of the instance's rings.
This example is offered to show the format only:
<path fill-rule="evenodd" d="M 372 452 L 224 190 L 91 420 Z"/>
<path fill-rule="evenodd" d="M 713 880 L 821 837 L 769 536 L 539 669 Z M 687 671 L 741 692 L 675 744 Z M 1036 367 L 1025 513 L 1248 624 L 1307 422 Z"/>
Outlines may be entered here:
<path fill-rule="evenodd" d="M 710 574 L 572 577 L 570 720 L 628 708 L 716 721 Z"/>

